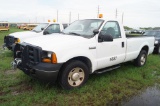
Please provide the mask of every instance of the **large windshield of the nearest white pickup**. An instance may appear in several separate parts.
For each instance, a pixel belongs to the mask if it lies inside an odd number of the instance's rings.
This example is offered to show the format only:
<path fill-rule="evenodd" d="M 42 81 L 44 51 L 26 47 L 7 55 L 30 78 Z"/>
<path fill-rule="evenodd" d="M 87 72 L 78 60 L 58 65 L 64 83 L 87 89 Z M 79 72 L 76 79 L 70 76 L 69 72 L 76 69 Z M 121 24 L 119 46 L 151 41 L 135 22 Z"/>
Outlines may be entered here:
<path fill-rule="evenodd" d="M 94 35 L 93 30 L 99 29 L 103 22 L 104 20 L 101 19 L 77 20 L 63 30 L 63 33 L 83 37 L 92 37 Z"/>

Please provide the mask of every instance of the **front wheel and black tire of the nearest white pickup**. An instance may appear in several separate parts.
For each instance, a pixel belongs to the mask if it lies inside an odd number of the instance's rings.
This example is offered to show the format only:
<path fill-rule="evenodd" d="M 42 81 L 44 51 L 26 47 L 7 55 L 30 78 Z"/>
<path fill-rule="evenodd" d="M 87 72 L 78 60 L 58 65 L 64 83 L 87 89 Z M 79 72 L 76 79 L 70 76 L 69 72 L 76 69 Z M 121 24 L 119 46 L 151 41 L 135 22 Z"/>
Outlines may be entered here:
<path fill-rule="evenodd" d="M 81 61 L 72 60 L 62 68 L 59 83 L 63 89 L 81 87 L 89 77 L 88 67 Z"/>

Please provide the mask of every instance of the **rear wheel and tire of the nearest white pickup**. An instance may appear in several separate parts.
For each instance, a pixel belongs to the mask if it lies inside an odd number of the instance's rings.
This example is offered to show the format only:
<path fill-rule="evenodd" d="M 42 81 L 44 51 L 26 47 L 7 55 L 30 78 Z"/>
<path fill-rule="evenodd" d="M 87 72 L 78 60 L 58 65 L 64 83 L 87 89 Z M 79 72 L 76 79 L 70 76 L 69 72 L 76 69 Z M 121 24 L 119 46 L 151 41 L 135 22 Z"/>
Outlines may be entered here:
<path fill-rule="evenodd" d="M 141 67 L 145 65 L 146 61 L 147 61 L 147 52 L 145 50 L 141 50 L 140 54 L 135 59 L 134 63 L 136 66 Z"/>

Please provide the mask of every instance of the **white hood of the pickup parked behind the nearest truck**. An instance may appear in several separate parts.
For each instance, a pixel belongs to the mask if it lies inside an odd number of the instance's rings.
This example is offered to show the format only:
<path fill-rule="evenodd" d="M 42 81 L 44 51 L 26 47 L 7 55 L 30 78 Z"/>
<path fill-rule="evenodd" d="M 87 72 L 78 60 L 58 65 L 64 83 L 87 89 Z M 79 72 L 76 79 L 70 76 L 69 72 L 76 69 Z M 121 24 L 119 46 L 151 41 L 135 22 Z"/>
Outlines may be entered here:
<path fill-rule="evenodd" d="M 32 31 L 15 32 L 15 33 L 9 34 L 9 36 L 14 36 L 15 38 L 19 38 L 21 42 L 27 38 L 37 37 L 39 35 L 41 35 L 41 33 L 36 33 Z"/>

